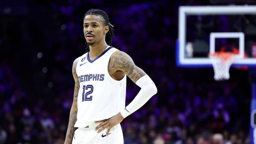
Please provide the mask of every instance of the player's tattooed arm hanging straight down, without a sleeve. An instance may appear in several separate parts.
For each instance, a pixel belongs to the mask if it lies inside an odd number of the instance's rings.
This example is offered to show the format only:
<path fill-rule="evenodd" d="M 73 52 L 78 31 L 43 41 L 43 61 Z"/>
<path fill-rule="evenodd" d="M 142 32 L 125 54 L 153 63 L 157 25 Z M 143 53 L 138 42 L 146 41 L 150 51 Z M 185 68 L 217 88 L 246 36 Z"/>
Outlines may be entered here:
<path fill-rule="evenodd" d="M 71 144 L 74 136 L 74 132 L 77 128 L 74 127 L 75 122 L 76 122 L 76 114 L 77 114 L 77 96 L 78 96 L 78 91 L 80 88 L 79 81 L 78 81 L 78 76 L 76 75 L 76 65 L 78 63 L 78 58 L 74 61 L 73 67 L 72 67 L 72 73 L 73 77 L 75 80 L 75 90 L 74 90 L 74 99 L 73 103 L 71 106 L 70 114 L 69 114 L 69 122 L 68 122 L 68 129 L 67 129 L 67 134 L 65 138 L 65 144 Z"/>

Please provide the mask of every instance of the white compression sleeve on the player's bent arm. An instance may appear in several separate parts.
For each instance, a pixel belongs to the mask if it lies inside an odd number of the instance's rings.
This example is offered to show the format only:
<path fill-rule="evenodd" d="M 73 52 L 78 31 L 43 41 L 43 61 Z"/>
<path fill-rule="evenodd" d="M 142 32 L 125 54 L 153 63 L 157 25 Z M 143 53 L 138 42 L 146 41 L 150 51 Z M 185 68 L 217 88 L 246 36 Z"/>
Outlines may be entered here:
<path fill-rule="evenodd" d="M 157 93 L 157 87 L 148 75 L 140 77 L 136 84 L 141 89 L 132 102 L 120 111 L 124 118 L 142 107 L 153 95 Z"/>

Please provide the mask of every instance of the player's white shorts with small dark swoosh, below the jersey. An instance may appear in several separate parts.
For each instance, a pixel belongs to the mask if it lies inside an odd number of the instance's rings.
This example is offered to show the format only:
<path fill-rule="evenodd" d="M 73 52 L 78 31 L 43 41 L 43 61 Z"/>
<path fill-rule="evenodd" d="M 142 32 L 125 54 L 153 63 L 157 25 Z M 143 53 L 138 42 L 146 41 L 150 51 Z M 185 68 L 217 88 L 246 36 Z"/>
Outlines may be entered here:
<path fill-rule="evenodd" d="M 104 129 L 100 133 L 97 133 L 94 128 L 76 129 L 72 144 L 124 144 L 124 137 L 120 124 L 110 129 L 108 136 L 106 136 L 108 129 Z"/>

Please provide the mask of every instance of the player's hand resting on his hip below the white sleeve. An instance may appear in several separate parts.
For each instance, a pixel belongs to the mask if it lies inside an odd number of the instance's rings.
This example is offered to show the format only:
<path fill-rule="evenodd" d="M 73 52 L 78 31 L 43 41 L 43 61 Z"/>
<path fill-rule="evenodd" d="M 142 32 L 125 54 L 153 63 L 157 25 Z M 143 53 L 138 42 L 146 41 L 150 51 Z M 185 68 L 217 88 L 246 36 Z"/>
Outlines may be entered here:
<path fill-rule="evenodd" d="M 113 117 L 111 117 L 109 119 L 105 119 L 105 120 L 101 120 L 101 121 L 94 121 L 95 123 L 102 122 L 95 128 L 95 131 L 97 130 L 97 133 L 100 133 L 102 130 L 108 128 L 107 133 L 106 133 L 106 136 L 108 136 L 110 129 L 112 129 L 114 126 L 118 125 L 123 120 L 124 120 L 124 117 L 119 112 L 118 114 L 114 115 Z"/>

